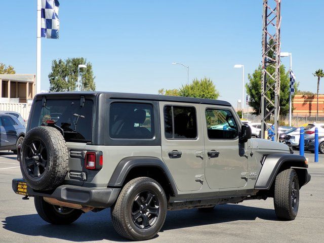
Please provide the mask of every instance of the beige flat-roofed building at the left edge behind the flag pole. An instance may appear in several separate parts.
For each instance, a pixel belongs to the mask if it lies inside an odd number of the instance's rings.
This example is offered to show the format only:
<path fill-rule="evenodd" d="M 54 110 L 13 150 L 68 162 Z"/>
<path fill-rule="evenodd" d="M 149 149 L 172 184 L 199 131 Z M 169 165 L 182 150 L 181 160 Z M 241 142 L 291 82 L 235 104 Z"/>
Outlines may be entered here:
<path fill-rule="evenodd" d="M 0 103 L 27 103 L 35 96 L 35 74 L 0 74 Z"/>

